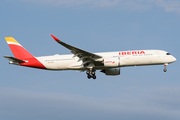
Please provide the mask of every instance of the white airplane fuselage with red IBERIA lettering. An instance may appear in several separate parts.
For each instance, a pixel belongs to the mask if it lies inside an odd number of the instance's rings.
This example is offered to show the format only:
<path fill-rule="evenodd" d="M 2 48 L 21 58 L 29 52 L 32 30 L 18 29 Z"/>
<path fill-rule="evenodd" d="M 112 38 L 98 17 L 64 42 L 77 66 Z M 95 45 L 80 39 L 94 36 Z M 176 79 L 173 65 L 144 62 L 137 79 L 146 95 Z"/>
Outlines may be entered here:
<path fill-rule="evenodd" d="M 119 59 L 117 66 L 95 66 L 93 69 L 108 69 L 125 66 L 141 66 L 141 65 L 158 65 L 168 64 L 176 61 L 172 55 L 162 50 L 135 50 L 135 51 L 120 51 L 120 52 L 102 52 L 94 53 L 102 56 L 102 62 L 107 59 Z M 74 55 L 54 55 L 36 57 L 49 70 L 86 70 L 82 61 L 78 61 L 78 57 Z M 99 60 L 95 60 L 99 61 Z M 113 61 L 113 60 L 112 60 Z M 112 62 L 104 61 L 104 62 Z"/>

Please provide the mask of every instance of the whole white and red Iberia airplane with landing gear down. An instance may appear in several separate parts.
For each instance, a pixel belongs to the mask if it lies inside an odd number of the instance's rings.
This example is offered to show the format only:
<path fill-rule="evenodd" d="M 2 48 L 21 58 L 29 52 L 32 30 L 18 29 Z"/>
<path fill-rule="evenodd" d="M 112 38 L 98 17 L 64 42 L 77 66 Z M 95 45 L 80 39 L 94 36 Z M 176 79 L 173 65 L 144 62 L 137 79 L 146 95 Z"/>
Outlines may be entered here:
<path fill-rule="evenodd" d="M 13 37 L 5 37 L 15 57 L 4 56 L 9 64 L 39 68 L 44 70 L 78 70 L 86 71 L 87 78 L 96 79 L 96 70 L 105 75 L 120 75 L 120 68 L 127 66 L 167 65 L 176 61 L 170 53 L 163 50 L 133 50 L 117 52 L 91 53 L 62 42 L 54 35 L 52 38 L 71 51 L 68 55 L 34 57 Z"/>

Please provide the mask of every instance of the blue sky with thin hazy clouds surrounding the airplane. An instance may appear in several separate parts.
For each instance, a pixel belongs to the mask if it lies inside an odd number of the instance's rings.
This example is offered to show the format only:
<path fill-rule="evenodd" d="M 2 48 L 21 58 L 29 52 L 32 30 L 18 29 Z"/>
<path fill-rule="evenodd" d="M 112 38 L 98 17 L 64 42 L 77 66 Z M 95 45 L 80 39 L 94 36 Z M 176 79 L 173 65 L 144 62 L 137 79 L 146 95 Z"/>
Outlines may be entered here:
<path fill-rule="evenodd" d="M 179 120 L 179 0 L 2 0 L 1 120 Z M 49 34 L 89 52 L 160 49 L 177 61 L 121 68 L 120 76 L 9 65 L 4 37 L 34 56 L 71 54 Z"/>

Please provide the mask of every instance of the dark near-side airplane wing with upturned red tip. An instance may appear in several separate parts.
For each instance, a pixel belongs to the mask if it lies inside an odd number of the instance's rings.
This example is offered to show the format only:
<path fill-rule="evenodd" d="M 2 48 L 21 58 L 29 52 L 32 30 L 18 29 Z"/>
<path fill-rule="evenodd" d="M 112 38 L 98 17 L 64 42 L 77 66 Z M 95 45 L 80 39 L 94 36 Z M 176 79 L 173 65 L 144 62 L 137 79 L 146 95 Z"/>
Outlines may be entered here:
<path fill-rule="evenodd" d="M 52 34 L 50 34 L 55 41 L 57 41 L 59 44 L 61 44 L 62 46 L 66 47 L 67 49 L 71 50 L 71 53 L 74 54 L 74 57 L 79 57 L 79 60 L 78 61 L 83 61 L 83 64 L 86 64 L 86 63 L 92 63 L 92 62 L 95 62 L 95 60 L 97 59 L 100 59 L 102 58 L 101 56 L 99 55 L 96 55 L 96 54 L 93 54 L 93 53 L 90 53 L 90 52 L 87 52 L 85 50 L 82 50 L 82 49 L 79 49 L 77 47 L 74 47 L 74 46 L 71 46 L 71 45 L 68 45 L 64 42 L 62 42 L 61 40 L 59 40 L 58 38 L 56 38 L 55 36 L 53 36 Z"/>

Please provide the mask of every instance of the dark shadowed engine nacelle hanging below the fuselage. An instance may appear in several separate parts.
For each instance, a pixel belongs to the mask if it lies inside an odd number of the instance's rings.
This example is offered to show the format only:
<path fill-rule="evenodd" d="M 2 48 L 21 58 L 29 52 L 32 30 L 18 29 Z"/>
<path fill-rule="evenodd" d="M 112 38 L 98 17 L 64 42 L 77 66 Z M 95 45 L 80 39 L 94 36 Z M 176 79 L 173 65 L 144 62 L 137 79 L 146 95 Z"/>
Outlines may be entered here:
<path fill-rule="evenodd" d="M 106 75 L 120 75 L 120 68 L 110 68 L 101 70 L 101 72 L 105 73 Z"/>

